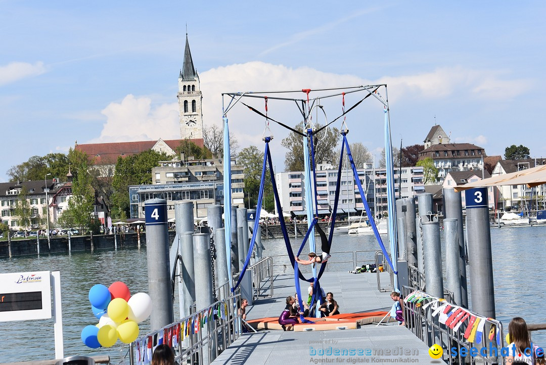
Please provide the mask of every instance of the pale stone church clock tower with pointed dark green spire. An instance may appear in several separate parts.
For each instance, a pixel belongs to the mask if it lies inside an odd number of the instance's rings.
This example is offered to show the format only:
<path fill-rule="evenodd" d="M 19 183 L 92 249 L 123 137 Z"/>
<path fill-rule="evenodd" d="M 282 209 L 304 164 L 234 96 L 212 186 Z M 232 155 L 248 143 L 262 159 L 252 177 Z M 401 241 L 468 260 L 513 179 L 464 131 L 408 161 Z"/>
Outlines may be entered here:
<path fill-rule="evenodd" d="M 180 138 L 203 139 L 203 113 L 201 103 L 203 95 L 199 86 L 199 76 L 193 66 L 192 53 L 189 51 L 188 34 L 184 63 L 178 77 L 178 105 L 180 110 Z"/>

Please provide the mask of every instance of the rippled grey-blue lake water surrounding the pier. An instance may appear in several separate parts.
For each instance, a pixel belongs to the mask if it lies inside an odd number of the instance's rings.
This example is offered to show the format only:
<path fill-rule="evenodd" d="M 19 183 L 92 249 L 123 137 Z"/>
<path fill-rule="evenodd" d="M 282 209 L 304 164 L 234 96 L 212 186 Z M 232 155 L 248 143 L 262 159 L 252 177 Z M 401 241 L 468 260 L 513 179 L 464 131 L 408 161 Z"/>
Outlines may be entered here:
<path fill-rule="evenodd" d="M 294 252 L 299 248 L 296 242 L 301 242 L 301 239 L 292 238 Z M 268 240 L 263 243 L 266 248 L 264 256 L 280 255 L 275 258 L 275 271 L 282 273 L 283 265 L 287 264 L 289 273 L 291 268 L 288 258 L 282 256 L 286 255 L 284 241 Z M 522 316 L 527 323 L 546 322 L 542 308 L 546 302 L 543 285 L 546 279 L 546 226 L 492 229 L 491 244 L 497 319 L 503 322 L 506 331 L 508 322 L 514 316 Z M 333 252 L 363 251 L 358 255 L 359 262 L 372 262 L 373 253 L 377 249 L 373 235 L 335 235 L 332 246 Z M 306 253 L 307 249 L 304 249 L 302 256 Z M 331 260 L 349 262 L 331 265 L 329 270 L 352 270 L 352 256 L 351 253 L 336 254 Z M 132 294 L 147 292 L 145 248 L 0 259 L 0 265 L 2 272 L 60 270 L 65 356 L 108 354 L 112 362 L 121 360 L 127 346 L 123 347 L 119 342 L 112 348 L 98 350 L 82 344 L 82 328 L 97 323 L 87 294 L 94 284 L 108 286 L 118 280 L 126 283 Z M 310 270 L 308 266 L 305 269 Z M 468 284 L 471 285 L 471 282 Z M 176 313 L 178 310 L 175 310 Z M 149 331 L 149 321 L 143 322 L 140 330 L 141 334 Z M 0 333 L 4 339 L 0 347 L 0 362 L 55 357 L 53 320 L 2 322 Z M 533 334 L 533 340 L 539 345 L 546 345 L 546 331 Z"/>

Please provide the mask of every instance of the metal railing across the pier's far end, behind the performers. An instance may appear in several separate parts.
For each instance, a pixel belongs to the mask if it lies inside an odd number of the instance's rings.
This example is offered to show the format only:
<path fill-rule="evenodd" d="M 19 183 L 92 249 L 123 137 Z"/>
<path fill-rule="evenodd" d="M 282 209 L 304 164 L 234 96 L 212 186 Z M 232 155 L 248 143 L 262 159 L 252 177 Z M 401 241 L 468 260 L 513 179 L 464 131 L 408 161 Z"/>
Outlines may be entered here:
<path fill-rule="evenodd" d="M 325 271 L 343 271 L 347 270 L 348 267 L 351 270 L 354 270 L 355 267 L 360 267 L 365 264 L 373 264 L 375 261 L 373 258 L 370 258 L 371 253 L 375 253 L 376 250 L 359 250 L 359 251 L 336 251 L 330 252 L 331 258 L 326 262 Z M 367 257 L 366 257 L 367 256 Z M 287 262 L 286 264 L 274 264 L 274 268 L 282 268 L 282 270 L 277 270 L 276 273 L 287 273 L 292 270 L 290 266 L 290 261 L 288 260 L 288 255 L 272 255 L 270 256 L 275 262 Z M 304 258 L 300 256 L 301 259 L 307 260 L 307 255 Z M 349 264 L 351 266 L 349 266 Z M 302 266 L 300 265 L 300 270 Z"/>

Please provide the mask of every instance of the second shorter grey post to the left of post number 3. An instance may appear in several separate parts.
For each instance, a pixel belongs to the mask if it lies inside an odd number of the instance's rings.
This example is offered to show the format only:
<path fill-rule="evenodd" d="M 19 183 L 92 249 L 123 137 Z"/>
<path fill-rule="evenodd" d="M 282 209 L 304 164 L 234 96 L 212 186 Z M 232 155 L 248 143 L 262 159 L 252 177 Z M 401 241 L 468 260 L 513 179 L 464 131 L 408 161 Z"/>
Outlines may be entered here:
<path fill-rule="evenodd" d="M 426 292 L 443 298 L 442 247 L 438 222 L 423 223 L 423 259 Z"/>

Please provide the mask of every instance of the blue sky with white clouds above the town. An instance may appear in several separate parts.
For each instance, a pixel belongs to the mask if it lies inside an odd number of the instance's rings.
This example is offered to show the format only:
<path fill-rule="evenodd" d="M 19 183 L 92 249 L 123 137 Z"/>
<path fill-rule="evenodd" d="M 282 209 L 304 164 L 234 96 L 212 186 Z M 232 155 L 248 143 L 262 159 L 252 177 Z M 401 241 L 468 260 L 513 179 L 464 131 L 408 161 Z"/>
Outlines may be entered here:
<path fill-rule="evenodd" d="M 436 122 L 452 142 L 488 155 L 523 144 L 546 156 L 540 1 L 0 1 L 0 9 L 0 181 L 10 166 L 76 140 L 179 136 L 186 24 L 206 125 L 221 124 L 222 92 L 387 83 L 394 145 L 422 143 Z M 383 113 L 371 99 L 348 116 L 349 140 L 379 155 Z M 269 112 L 299 122 L 292 105 Z M 262 148 L 262 119 L 242 107 L 228 117 L 241 147 Z M 282 170 L 286 131 L 274 135 Z"/>

